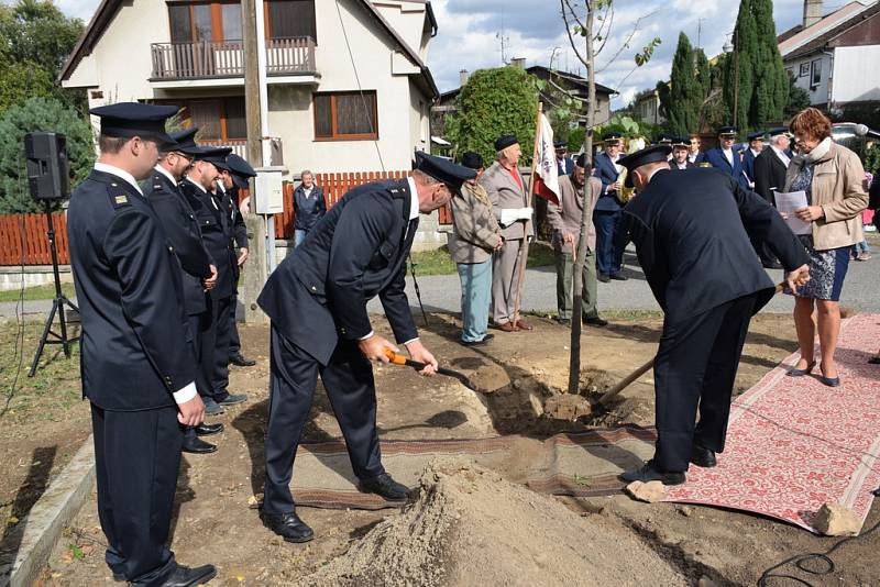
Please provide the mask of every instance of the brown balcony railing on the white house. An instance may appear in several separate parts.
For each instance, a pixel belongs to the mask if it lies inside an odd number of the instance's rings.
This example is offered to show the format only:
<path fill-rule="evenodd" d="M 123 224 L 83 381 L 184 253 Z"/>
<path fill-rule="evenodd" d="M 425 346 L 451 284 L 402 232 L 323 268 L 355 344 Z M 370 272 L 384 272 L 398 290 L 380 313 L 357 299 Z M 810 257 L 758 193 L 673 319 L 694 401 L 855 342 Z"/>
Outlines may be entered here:
<path fill-rule="evenodd" d="M 244 76 L 244 45 L 239 41 L 153 43 L 151 81 Z M 268 76 L 316 76 L 315 40 L 309 36 L 266 40 Z"/>

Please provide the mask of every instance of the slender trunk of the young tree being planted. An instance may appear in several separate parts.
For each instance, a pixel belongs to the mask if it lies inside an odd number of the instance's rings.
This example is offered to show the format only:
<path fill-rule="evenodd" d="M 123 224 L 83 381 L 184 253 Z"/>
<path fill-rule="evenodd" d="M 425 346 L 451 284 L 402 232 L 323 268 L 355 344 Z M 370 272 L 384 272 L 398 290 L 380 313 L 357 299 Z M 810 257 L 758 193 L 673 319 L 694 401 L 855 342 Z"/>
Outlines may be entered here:
<path fill-rule="evenodd" d="M 584 134 L 584 154 L 586 162 L 591 168 L 593 166 L 593 126 L 596 122 L 596 75 L 595 75 L 595 55 L 593 49 L 593 8 L 591 0 L 585 2 L 586 19 L 584 21 L 586 27 L 586 79 L 587 79 L 587 103 L 586 103 L 586 133 Z M 584 200 L 587 198 L 587 190 L 590 189 L 590 176 L 584 178 Z M 584 204 L 586 201 L 584 202 Z M 584 292 L 584 264 L 586 263 L 586 232 L 593 219 L 590 215 L 590 207 L 584 206 L 584 211 L 581 217 L 581 233 L 578 237 L 578 254 L 574 261 L 574 308 L 571 315 L 571 358 L 569 361 L 569 394 L 578 394 L 580 391 L 581 381 L 581 319 L 583 318 L 581 306 L 583 302 Z"/>

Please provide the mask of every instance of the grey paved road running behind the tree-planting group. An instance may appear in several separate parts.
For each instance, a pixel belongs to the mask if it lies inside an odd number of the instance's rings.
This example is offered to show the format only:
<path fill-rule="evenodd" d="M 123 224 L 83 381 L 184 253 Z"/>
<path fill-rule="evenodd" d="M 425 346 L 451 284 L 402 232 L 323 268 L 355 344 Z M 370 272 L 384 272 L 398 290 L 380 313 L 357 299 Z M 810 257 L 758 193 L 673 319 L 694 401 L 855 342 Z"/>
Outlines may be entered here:
<path fill-rule="evenodd" d="M 880 250 L 877 241 L 871 243 L 875 257 L 866 262 L 853 262 L 844 284 L 842 304 L 860 312 L 880 312 Z M 636 263 L 631 248 L 626 255 L 627 266 L 624 270 L 629 280 L 598 284 L 598 306 L 602 310 L 659 310 L 651 290 L 645 281 L 645 275 Z M 774 283 L 782 280 L 781 270 L 768 270 Z M 461 309 L 461 286 L 458 275 L 436 275 L 419 278 L 421 299 L 429 311 L 442 310 L 459 312 Z M 556 312 L 556 272 L 553 267 L 539 267 L 526 270 L 526 286 L 522 291 L 522 308 Z M 413 279 L 407 276 L 407 294 L 410 303 L 416 306 L 416 291 Z M 74 301 L 76 303 L 76 301 Z M 767 304 L 765 311 L 791 311 L 793 306 L 789 296 L 777 296 Z M 43 319 L 52 308 L 52 300 L 34 300 L 24 302 L 24 313 L 30 320 Z M 370 302 L 371 312 L 381 312 L 378 300 Z M 14 319 L 15 302 L 0 302 L 0 318 Z"/>

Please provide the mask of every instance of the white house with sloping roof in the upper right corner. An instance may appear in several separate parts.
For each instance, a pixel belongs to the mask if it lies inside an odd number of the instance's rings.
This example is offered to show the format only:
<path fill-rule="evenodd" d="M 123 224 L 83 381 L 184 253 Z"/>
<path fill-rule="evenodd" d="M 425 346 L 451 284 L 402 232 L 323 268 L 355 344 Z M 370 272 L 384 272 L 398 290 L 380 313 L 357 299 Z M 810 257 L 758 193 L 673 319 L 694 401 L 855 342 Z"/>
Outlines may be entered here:
<path fill-rule="evenodd" d="M 880 2 L 854 1 L 823 16 L 822 0 L 805 0 L 803 24 L 779 38 L 785 69 L 812 104 L 880 102 Z"/>

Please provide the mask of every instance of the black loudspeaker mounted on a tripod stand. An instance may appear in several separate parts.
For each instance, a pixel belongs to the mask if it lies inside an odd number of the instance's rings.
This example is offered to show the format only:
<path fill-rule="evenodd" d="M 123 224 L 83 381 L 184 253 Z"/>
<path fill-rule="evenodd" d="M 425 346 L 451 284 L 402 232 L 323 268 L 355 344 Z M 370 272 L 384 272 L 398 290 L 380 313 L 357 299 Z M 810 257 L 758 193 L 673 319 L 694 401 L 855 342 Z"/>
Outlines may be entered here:
<path fill-rule="evenodd" d="M 35 200 L 63 200 L 70 196 L 70 166 L 59 133 L 35 132 L 24 135 L 28 158 L 28 186 Z"/>

